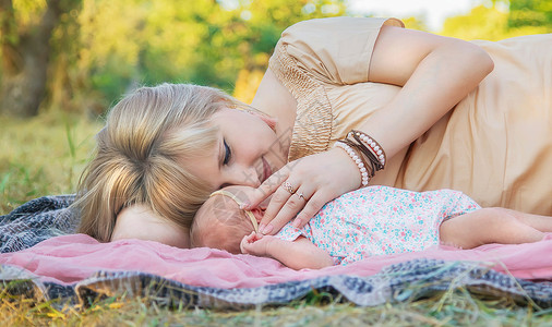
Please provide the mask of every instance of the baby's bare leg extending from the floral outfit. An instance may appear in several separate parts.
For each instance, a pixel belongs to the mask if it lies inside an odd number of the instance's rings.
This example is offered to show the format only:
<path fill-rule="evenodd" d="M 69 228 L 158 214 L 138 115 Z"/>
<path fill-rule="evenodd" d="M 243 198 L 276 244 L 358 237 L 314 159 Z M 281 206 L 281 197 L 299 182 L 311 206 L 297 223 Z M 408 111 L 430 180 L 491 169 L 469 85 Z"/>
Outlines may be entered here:
<path fill-rule="evenodd" d="M 533 227 L 537 226 L 533 223 L 537 218 L 533 217 L 542 218 L 503 208 L 482 208 L 444 221 L 440 228 L 440 239 L 445 244 L 461 249 L 489 243 L 537 242 L 544 234 Z"/>

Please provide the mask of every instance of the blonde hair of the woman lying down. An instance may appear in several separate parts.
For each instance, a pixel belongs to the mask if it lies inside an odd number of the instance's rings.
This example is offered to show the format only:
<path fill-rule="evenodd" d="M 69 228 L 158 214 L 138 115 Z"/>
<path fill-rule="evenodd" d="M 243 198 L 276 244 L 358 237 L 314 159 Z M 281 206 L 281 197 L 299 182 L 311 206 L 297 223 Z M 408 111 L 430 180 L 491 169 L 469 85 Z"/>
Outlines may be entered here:
<path fill-rule="evenodd" d="M 79 232 L 110 241 L 117 215 L 133 204 L 190 229 L 213 190 L 182 164 L 215 146 L 217 129 L 209 119 L 223 107 L 243 104 L 188 84 L 141 87 L 119 101 L 81 177 L 74 204 L 82 216 Z"/>

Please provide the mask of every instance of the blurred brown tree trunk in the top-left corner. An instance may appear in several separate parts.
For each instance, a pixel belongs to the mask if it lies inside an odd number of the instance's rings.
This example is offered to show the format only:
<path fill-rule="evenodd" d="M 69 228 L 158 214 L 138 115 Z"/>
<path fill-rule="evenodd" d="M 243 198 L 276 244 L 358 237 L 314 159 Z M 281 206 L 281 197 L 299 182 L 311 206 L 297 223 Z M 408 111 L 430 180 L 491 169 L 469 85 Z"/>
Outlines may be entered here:
<path fill-rule="evenodd" d="M 2 81 L 0 112 L 32 117 L 46 90 L 46 74 L 50 56 L 50 37 L 59 20 L 59 1 L 48 1 L 40 21 L 20 34 L 11 0 L 0 0 Z"/>

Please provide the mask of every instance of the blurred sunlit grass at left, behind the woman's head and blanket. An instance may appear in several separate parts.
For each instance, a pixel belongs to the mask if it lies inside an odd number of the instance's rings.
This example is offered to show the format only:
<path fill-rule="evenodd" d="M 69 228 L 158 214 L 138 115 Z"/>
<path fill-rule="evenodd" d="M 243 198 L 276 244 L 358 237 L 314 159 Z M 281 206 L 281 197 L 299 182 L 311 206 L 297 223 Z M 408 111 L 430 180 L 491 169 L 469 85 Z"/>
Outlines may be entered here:
<path fill-rule="evenodd" d="M 0 215 L 35 197 L 74 193 L 100 128 L 63 113 L 0 118 Z"/>

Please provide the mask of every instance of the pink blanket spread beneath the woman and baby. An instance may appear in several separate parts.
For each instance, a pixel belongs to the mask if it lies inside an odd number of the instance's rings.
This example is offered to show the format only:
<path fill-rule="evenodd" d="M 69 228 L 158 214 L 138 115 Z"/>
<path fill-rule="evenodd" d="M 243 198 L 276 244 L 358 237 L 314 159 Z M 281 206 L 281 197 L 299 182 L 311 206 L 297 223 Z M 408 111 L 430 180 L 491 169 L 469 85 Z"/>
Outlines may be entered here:
<path fill-rule="evenodd" d="M 415 258 L 483 262 L 497 271 L 532 280 L 552 280 L 552 234 L 537 243 L 488 244 L 473 250 L 439 246 L 423 252 L 371 257 L 348 266 L 296 271 L 269 258 L 231 255 L 211 249 L 182 250 L 156 242 L 99 243 L 64 235 L 31 249 L 0 254 L 0 264 L 22 267 L 46 281 L 73 283 L 98 270 L 137 270 L 192 286 L 247 288 L 327 275 L 371 276 L 383 267 Z"/>

